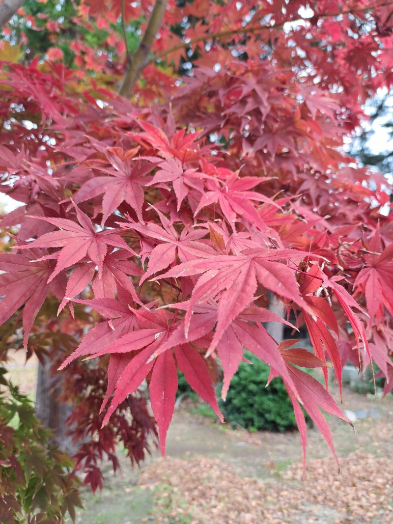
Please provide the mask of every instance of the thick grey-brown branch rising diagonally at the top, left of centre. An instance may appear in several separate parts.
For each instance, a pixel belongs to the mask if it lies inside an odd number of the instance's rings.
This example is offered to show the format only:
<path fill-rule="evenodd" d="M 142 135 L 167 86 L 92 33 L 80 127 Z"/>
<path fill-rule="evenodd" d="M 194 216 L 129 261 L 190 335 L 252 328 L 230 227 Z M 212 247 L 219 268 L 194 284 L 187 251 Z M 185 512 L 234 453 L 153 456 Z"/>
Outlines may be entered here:
<path fill-rule="evenodd" d="M 167 4 L 168 0 L 156 0 L 150 14 L 145 34 L 139 43 L 138 49 L 128 59 L 127 70 L 121 88 L 119 89 L 119 95 L 124 96 L 127 99 L 132 95 L 139 74 L 147 64 L 147 57 L 156 38 L 157 31 L 161 26 L 162 17 L 167 8 Z"/>

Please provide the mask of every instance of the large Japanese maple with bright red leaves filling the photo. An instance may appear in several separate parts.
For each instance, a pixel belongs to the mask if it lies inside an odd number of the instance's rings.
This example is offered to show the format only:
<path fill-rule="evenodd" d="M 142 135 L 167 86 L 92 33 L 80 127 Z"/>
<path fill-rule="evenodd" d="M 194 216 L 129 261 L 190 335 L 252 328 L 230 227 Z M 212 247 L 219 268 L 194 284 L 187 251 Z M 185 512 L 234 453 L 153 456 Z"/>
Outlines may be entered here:
<path fill-rule="evenodd" d="M 67 65 L 70 19 L 52 11 L 21 8 L 2 41 L 1 190 L 21 205 L 2 221 L 17 234 L 0 256 L 1 322 L 21 318 L 32 351 L 42 310 L 60 330 L 89 315 L 61 368 L 87 358 L 87 376 L 100 359 L 107 387 L 79 425 L 119 427 L 146 380 L 165 453 L 178 369 L 222 418 L 217 364 L 225 397 L 247 349 L 282 377 L 303 450 L 301 406 L 334 453 L 320 408 L 349 421 L 328 366 L 341 388 L 348 360 L 374 361 L 393 388 L 390 187 L 343 149 L 367 97 L 393 82 L 393 3 L 75 6 Z M 24 19 L 57 42 L 28 48 Z M 29 53 L 18 61 L 11 44 Z M 266 322 L 305 324 L 314 352 Z M 325 386 L 299 366 L 321 367 Z"/>

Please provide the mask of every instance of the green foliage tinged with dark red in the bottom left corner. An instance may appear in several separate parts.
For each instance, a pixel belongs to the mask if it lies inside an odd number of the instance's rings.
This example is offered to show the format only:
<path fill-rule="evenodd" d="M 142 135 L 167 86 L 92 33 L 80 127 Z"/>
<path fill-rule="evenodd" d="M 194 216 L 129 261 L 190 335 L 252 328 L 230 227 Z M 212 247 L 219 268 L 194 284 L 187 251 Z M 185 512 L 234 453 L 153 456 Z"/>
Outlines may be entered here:
<path fill-rule="evenodd" d="M 0 522 L 61 524 L 82 507 L 73 461 L 50 443 L 31 401 L 0 367 Z"/>

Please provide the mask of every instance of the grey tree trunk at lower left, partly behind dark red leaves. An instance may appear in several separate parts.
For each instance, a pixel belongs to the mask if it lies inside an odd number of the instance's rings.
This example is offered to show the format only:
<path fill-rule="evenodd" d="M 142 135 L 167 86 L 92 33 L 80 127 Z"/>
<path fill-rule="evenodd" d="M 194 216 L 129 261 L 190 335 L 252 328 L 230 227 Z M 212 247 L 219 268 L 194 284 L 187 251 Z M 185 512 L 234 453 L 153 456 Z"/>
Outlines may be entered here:
<path fill-rule="evenodd" d="M 61 373 L 52 374 L 50 358 L 45 356 L 45 366 L 39 364 L 36 396 L 36 413 L 39 420 L 53 431 L 53 442 L 62 451 L 72 455 L 76 446 L 69 436 L 69 427 L 65 422 L 70 416 L 72 406 L 69 403 L 59 402 L 63 376 Z"/>

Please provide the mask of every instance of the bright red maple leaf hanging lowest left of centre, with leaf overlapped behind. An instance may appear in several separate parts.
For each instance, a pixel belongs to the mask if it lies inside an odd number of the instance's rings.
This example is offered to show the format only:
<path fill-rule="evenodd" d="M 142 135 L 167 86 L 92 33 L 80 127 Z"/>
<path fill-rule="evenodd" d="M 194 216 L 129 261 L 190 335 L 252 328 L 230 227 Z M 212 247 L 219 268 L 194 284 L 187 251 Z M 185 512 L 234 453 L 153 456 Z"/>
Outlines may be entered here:
<path fill-rule="evenodd" d="M 166 433 L 177 391 L 177 368 L 174 373 L 173 356 L 165 356 L 165 353 L 157 357 L 155 355 L 160 353 L 160 347 L 166 343 L 173 331 L 174 326 L 168 322 L 173 319 L 173 314 L 163 310 L 136 310 L 113 299 L 75 301 L 92 306 L 111 319 L 111 324 L 103 322 L 95 326 L 61 368 L 79 356 L 90 355 L 89 358 L 96 358 L 110 354 L 108 388 L 101 411 L 112 394 L 113 398 L 105 413 L 103 424 L 108 421 L 119 403 L 136 391 L 152 371 L 149 378 L 150 388 L 153 390 L 151 405 L 159 427 L 161 449 L 165 454 Z M 125 313 L 130 319 L 126 324 Z M 117 320 L 112 322 L 112 319 Z M 203 400 L 210 403 L 222 420 L 205 359 L 187 342 L 172 347 L 185 379 Z M 166 353 L 171 353 L 171 350 Z"/>

